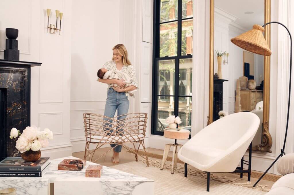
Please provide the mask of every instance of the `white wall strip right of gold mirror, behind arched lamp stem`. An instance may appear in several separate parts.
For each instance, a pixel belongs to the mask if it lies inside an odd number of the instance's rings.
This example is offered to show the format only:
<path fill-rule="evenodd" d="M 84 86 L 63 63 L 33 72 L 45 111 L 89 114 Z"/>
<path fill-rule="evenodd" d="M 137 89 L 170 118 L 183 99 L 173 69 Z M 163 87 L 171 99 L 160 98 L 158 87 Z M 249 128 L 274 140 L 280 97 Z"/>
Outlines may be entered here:
<path fill-rule="evenodd" d="M 286 1 L 278 1 L 275 3 L 276 7 L 278 7 L 277 18 L 278 21 L 283 23 L 288 27 L 290 33 L 293 34 L 293 21 L 294 21 L 294 4 L 290 0 Z M 275 145 L 272 148 L 275 148 L 275 156 L 280 154 L 280 149 L 283 148 L 284 137 L 285 137 L 285 127 L 286 127 L 286 119 L 287 119 L 287 109 L 288 109 L 288 93 L 289 93 L 289 73 L 290 73 L 290 38 L 289 35 L 284 27 L 278 24 L 272 24 L 272 29 L 277 29 L 278 36 L 277 36 L 277 50 L 275 51 L 277 55 L 275 55 L 275 59 L 277 60 L 275 67 L 271 68 L 273 74 L 277 76 L 276 81 L 271 80 L 271 86 L 276 86 L 275 90 L 273 90 L 273 94 L 276 96 L 276 115 L 274 128 L 276 128 L 275 136 Z M 293 55 L 293 54 L 292 54 Z M 293 59 L 292 59 L 293 60 Z M 293 69 L 292 69 L 293 75 Z M 293 83 L 293 77 L 292 81 Z M 294 130 L 293 130 L 293 119 L 294 119 L 294 110 L 293 110 L 293 84 L 291 86 L 291 102 L 290 102 L 290 115 L 289 115 L 289 128 L 288 128 L 288 135 L 287 135 L 287 142 L 285 147 L 286 153 L 293 153 L 294 151 Z M 272 92 L 272 91 L 271 91 Z M 271 108 L 270 108 L 271 109 Z M 270 110 L 270 114 L 272 114 Z M 270 116 L 271 117 L 271 116 Z M 276 165 L 274 166 L 274 173 L 276 172 Z"/>

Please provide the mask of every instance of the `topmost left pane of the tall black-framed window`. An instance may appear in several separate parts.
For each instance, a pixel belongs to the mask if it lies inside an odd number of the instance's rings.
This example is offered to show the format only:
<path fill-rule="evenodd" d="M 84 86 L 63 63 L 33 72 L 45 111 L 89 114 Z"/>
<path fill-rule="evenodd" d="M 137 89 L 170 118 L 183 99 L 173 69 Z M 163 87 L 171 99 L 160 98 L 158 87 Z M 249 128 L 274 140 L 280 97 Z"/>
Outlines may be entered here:
<path fill-rule="evenodd" d="M 160 22 L 168 22 L 178 19 L 178 0 L 161 0 Z"/>

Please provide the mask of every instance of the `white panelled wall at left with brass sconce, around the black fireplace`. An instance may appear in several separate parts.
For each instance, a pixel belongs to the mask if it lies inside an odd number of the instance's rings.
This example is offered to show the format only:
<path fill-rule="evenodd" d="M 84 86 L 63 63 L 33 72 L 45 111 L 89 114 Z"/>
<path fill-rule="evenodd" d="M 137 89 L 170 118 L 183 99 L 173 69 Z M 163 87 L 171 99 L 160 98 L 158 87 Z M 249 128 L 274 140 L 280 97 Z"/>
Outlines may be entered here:
<path fill-rule="evenodd" d="M 42 62 L 31 68 L 31 125 L 49 128 L 54 139 L 42 148 L 42 156 L 71 155 L 69 141 L 71 71 L 71 1 L 0 1 L 0 58 L 4 58 L 5 28 L 19 29 L 20 60 Z M 47 33 L 46 8 L 64 12 L 61 35 Z M 13 13 L 13 14 L 12 14 Z"/>

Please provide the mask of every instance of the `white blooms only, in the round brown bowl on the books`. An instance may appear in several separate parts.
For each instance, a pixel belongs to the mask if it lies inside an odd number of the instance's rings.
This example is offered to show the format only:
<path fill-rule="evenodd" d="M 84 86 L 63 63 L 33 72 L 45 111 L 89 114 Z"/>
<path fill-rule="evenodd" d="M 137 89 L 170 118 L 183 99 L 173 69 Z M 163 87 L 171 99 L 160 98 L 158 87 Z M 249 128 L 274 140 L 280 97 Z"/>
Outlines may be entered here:
<path fill-rule="evenodd" d="M 20 133 L 16 128 L 12 128 L 10 131 L 10 139 L 19 138 L 16 140 L 16 149 L 20 153 L 24 153 L 29 150 L 38 151 L 43 147 L 47 147 L 49 144 L 48 139 L 53 139 L 53 133 L 50 129 L 46 128 L 44 131 L 40 131 L 40 128 L 36 126 L 27 126 L 26 129 Z"/>

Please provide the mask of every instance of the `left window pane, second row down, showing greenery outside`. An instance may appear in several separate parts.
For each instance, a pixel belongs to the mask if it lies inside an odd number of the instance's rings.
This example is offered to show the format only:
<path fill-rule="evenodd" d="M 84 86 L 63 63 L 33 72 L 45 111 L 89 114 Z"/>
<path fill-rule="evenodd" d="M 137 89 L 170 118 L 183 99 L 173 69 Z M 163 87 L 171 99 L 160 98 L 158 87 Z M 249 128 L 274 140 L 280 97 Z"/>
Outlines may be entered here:
<path fill-rule="evenodd" d="M 160 57 L 176 56 L 178 40 L 178 23 L 164 23 L 160 25 Z"/>

